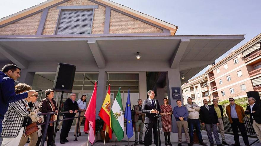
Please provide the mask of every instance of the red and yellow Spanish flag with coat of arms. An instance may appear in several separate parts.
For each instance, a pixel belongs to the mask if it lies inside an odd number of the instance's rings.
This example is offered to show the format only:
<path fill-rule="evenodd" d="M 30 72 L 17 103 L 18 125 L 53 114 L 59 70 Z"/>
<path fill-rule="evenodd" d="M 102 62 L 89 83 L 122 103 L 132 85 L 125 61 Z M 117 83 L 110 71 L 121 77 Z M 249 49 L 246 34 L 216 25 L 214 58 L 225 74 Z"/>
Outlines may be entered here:
<path fill-rule="evenodd" d="M 101 119 L 104 120 L 104 131 L 105 131 L 105 124 L 107 127 L 106 132 L 109 133 L 109 137 L 110 139 L 112 138 L 112 122 L 111 122 L 111 99 L 110 99 L 110 94 L 111 93 L 111 89 L 110 89 L 110 85 L 108 87 L 108 93 L 104 99 L 104 102 L 101 106 L 101 110 L 99 113 L 99 116 L 101 117 Z"/>

